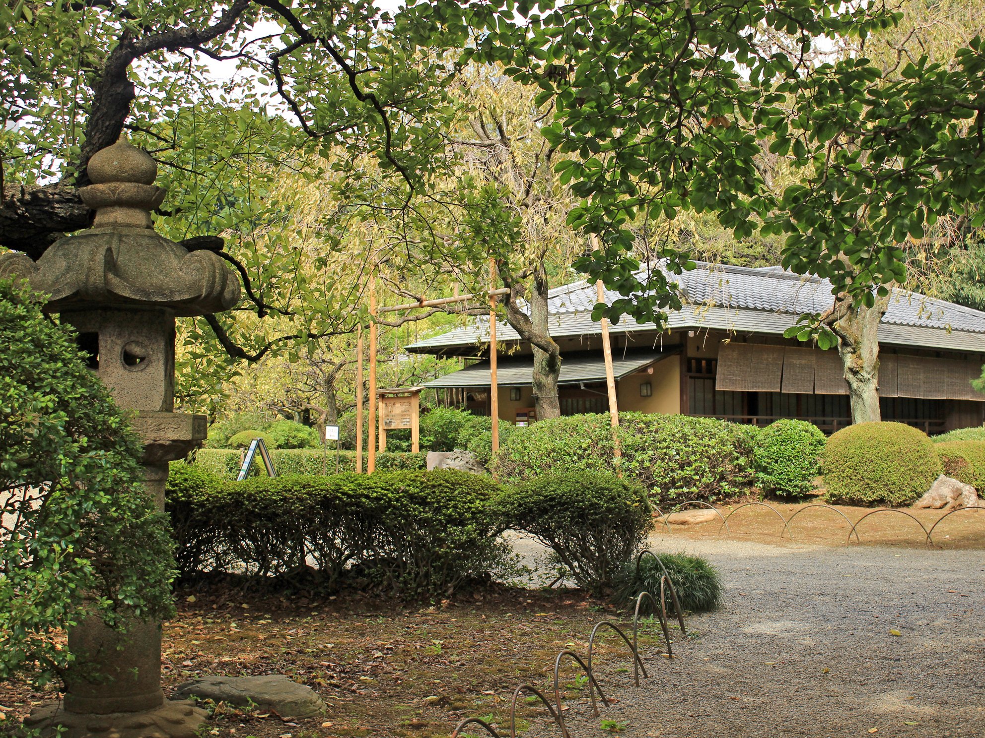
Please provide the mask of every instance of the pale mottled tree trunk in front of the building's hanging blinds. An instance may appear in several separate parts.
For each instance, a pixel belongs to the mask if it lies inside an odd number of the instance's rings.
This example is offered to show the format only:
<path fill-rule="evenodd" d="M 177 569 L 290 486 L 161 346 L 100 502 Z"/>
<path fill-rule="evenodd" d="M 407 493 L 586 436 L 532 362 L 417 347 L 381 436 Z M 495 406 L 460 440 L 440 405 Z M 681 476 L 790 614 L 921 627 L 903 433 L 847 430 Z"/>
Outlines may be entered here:
<path fill-rule="evenodd" d="M 852 305 L 847 295 L 834 299 L 832 313 L 838 318 L 831 330 L 838 337 L 838 354 L 848 382 L 852 423 L 882 419 L 879 406 L 879 322 L 886 314 L 889 298 L 877 297 L 873 307 Z"/>

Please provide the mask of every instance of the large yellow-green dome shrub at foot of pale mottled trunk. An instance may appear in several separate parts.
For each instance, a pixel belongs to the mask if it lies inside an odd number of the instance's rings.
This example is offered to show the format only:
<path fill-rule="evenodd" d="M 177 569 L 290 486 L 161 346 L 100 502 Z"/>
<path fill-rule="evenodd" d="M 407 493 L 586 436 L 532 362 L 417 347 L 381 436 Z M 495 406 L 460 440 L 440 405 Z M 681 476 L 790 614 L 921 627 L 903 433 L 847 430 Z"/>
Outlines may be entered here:
<path fill-rule="evenodd" d="M 910 505 L 943 467 L 934 443 L 903 423 L 859 423 L 827 439 L 821 469 L 827 500 L 846 505 Z"/>

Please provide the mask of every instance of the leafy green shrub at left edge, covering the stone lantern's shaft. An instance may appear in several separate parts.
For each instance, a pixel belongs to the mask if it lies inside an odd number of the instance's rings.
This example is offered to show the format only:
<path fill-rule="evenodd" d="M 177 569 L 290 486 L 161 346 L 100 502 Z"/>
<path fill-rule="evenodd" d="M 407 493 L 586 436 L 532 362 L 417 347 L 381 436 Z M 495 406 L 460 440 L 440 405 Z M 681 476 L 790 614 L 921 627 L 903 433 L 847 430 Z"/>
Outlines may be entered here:
<path fill-rule="evenodd" d="M 171 612 L 171 544 L 139 439 L 72 336 L 0 280 L 0 679 L 54 678 L 62 629 Z"/>

